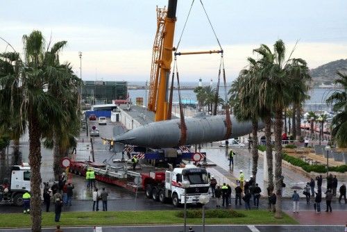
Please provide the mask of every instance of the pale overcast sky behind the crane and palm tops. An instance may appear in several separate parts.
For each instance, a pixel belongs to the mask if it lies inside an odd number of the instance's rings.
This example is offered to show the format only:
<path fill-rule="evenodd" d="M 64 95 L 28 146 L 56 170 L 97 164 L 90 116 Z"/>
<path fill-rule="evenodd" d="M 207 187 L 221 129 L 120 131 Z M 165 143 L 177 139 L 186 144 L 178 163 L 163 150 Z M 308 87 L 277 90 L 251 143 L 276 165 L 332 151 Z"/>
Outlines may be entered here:
<path fill-rule="evenodd" d="M 191 0 L 178 0 L 175 42 L 178 42 Z M 224 50 L 228 81 L 245 67 L 260 44 L 272 48 L 282 39 L 294 57 L 310 68 L 347 58 L 346 0 L 203 0 Z M 5 1 L 0 0 L 0 37 L 22 52 L 22 35 L 40 30 L 47 44 L 67 40 L 61 61 L 68 60 L 78 76 L 82 51 L 83 80 L 149 80 L 156 6 L 167 0 Z M 0 52 L 10 51 L 0 41 Z M 201 3 L 195 0 L 180 51 L 219 49 Z M 183 81 L 217 78 L 220 56 L 178 57 Z"/>

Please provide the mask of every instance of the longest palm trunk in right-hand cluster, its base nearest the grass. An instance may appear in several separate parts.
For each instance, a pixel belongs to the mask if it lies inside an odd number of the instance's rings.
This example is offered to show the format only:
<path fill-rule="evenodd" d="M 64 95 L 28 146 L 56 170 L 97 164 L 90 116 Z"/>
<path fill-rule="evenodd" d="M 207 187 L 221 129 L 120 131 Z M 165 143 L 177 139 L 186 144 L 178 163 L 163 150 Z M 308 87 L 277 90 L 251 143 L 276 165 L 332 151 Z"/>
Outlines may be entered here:
<path fill-rule="evenodd" d="M 275 181 L 276 181 L 276 213 L 275 218 L 282 218 L 282 109 L 275 115 Z"/>

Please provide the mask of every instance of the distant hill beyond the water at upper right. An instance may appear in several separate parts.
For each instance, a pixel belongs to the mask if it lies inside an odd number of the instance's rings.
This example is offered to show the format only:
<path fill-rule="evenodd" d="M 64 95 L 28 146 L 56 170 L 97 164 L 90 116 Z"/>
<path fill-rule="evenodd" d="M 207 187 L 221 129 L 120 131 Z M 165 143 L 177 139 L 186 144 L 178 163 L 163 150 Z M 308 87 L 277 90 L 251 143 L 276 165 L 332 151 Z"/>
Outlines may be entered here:
<path fill-rule="evenodd" d="M 310 74 L 314 85 L 321 85 L 322 83 L 330 85 L 339 76 L 336 74 L 337 71 L 347 73 L 347 59 L 335 60 L 315 69 L 310 69 Z"/>

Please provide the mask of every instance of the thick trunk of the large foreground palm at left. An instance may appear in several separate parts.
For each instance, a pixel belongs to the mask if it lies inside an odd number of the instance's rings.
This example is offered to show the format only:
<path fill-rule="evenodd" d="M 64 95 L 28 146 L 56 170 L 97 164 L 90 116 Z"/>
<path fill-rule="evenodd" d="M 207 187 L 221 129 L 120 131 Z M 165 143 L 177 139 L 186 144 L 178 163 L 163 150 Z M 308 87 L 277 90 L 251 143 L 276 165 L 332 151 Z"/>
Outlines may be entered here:
<path fill-rule="evenodd" d="M 31 231 L 41 232 L 41 142 L 37 117 L 30 110 L 29 121 L 29 164 L 31 166 Z"/>

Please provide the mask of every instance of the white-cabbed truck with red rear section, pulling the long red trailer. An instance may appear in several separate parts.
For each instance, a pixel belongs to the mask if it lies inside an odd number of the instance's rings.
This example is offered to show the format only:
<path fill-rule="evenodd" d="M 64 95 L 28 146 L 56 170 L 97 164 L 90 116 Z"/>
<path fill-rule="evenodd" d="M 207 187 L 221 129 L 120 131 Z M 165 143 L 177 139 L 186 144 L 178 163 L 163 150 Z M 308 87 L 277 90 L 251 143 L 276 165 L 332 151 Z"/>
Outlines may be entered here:
<path fill-rule="evenodd" d="M 178 207 L 185 203 L 185 190 L 187 191 L 187 204 L 198 204 L 201 194 L 208 194 L 210 181 L 205 168 L 195 165 L 176 167 L 173 171 L 150 172 L 141 174 L 142 188 L 148 198 L 162 203 L 172 201 Z M 183 181 L 189 181 L 189 187 L 182 187 Z"/>

